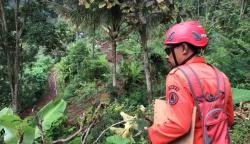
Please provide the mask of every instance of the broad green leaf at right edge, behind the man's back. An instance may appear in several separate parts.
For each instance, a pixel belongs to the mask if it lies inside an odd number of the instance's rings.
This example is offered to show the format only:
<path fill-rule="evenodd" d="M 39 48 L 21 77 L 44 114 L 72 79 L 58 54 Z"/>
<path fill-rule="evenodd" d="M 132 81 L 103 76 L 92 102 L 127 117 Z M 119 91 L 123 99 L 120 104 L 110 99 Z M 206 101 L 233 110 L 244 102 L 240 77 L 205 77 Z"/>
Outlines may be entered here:
<path fill-rule="evenodd" d="M 232 88 L 234 103 L 250 101 L 250 90 Z"/>

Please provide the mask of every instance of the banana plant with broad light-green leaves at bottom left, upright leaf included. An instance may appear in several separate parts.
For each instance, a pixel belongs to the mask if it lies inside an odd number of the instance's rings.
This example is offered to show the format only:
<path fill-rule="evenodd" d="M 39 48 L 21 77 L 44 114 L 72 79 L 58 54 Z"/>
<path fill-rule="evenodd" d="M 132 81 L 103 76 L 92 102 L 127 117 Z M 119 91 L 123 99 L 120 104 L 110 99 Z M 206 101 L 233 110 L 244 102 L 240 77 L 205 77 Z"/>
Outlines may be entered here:
<path fill-rule="evenodd" d="M 43 134 L 46 134 L 52 124 L 63 117 L 66 109 L 66 102 L 62 99 L 49 102 L 38 113 L 37 117 L 41 121 Z M 32 144 L 36 138 L 41 136 L 38 126 L 30 125 L 31 118 L 21 119 L 14 114 L 10 108 L 0 111 L 0 131 L 4 131 L 4 143 L 6 144 Z"/>

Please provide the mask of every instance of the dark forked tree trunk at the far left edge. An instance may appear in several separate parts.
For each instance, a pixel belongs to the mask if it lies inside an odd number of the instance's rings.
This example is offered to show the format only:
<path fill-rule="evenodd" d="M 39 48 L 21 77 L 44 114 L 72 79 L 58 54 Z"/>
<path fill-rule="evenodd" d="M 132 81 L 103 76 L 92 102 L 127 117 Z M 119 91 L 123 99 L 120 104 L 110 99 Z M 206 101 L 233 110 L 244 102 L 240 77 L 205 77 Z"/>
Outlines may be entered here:
<path fill-rule="evenodd" d="M 25 0 L 25 17 L 27 16 L 27 8 L 28 8 L 29 0 Z M 6 54 L 6 65 L 8 69 L 8 79 L 10 86 L 10 94 L 12 100 L 12 108 L 15 113 L 18 113 L 19 109 L 19 85 L 20 85 L 20 64 L 21 64 L 21 46 L 20 46 L 20 37 L 22 30 L 24 28 L 24 23 L 21 25 L 21 21 L 19 18 L 19 6 L 20 0 L 15 0 L 15 46 L 8 45 L 6 36 L 4 36 L 3 40 L 3 49 Z M 1 14 L 1 22 L 2 22 L 2 31 L 8 35 L 6 17 L 4 12 L 4 1 L 0 0 L 0 14 Z M 13 31 L 13 30 L 12 30 Z"/>

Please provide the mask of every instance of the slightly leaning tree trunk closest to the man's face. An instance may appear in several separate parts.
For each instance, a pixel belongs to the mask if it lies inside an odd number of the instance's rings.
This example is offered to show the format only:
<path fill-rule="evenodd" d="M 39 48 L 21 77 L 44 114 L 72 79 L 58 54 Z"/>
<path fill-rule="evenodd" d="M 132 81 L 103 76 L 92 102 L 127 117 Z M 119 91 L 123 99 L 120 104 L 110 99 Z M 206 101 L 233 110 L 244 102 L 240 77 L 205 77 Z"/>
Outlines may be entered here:
<path fill-rule="evenodd" d="M 148 47 L 147 47 L 147 25 L 141 24 L 139 29 L 140 37 L 141 37 L 141 45 L 143 48 L 144 54 L 144 72 L 147 82 L 147 95 L 148 95 L 148 103 L 152 103 L 152 85 L 151 85 L 151 76 L 150 76 L 150 66 L 149 66 L 149 58 L 148 58 Z"/>

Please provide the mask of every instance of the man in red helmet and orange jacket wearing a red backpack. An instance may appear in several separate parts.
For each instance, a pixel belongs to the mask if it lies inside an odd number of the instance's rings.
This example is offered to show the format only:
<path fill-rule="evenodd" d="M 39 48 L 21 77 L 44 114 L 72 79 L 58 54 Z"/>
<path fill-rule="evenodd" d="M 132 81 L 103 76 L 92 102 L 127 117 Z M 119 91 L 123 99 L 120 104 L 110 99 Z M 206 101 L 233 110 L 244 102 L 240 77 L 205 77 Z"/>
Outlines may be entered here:
<path fill-rule="evenodd" d="M 198 21 L 175 24 L 166 32 L 164 44 L 172 67 L 166 78 L 166 102 L 172 115 L 164 124 L 148 128 L 150 141 L 166 144 L 188 133 L 196 106 L 194 143 L 231 143 L 231 86 L 223 72 L 198 55 L 208 44 L 204 28 Z"/>

